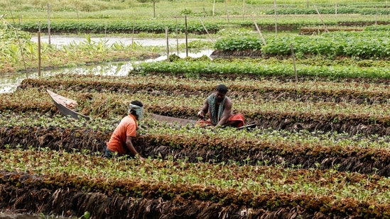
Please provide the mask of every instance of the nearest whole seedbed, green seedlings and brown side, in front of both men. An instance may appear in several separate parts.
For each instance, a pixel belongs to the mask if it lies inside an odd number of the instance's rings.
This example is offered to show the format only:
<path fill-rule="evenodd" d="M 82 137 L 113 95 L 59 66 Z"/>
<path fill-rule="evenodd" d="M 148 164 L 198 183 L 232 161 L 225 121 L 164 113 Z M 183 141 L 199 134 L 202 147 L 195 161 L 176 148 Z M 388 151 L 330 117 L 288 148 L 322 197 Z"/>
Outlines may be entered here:
<path fill-rule="evenodd" d="M 335 169 L 0 150 L 0 205 L 96 218 L 387 218 L 389 179 Z M 18 172 L 14 170 L 17 169 Z M 17 197 L 17 198 L 15 198 Z M 174 216 L 172 216 L 174 214 Z"/>

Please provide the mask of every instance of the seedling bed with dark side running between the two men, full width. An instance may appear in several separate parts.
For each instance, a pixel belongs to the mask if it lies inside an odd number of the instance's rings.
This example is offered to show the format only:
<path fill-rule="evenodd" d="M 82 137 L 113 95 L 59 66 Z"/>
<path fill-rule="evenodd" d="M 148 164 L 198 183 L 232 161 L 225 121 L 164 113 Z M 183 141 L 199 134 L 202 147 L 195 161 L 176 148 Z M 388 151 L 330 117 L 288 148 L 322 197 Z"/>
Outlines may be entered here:
<path fill-rule="evenodd" d="M 48 147 L 67 152 L 90 151 L 102 155 L 119 119 L 73 120 L 2 113 L 0 145 L 28 149 Z M 276 130 L 210 130 L 191 125 L 158 123 L 146 115 L 134 145 L 144 157 L 174 157 L 189 162 L 237 162 L 279 164 L 305 169 L 336 168 L 339 171 L 389 176 L 389 137 Z"/>

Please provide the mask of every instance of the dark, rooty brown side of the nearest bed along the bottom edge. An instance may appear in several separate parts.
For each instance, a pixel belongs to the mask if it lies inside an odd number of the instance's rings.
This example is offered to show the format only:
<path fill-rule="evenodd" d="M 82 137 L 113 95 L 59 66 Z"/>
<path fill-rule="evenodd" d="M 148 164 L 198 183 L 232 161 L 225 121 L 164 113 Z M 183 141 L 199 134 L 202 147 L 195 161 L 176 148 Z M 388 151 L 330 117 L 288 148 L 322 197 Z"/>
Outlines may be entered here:
<path fill-rule="evenodd" d="M 255 197 L 251 191 L 237 196 L 236 190 L 218 191 L 212 187 L 167 188 L 153 184 L 137 186 L 132 182 L 113 185 L 129 193 L 125 195 L 107 189 L 78 189 L 78 184 L 83 186 L 85 180 L 72 176 L 57 179 L 14 172 L 1 172 L 0 181 L 0 209 L 69 217 L 81 217 L 88 211 L 92 218 L 373 218 L 389 212 L 388 206 L 372 209 L 369 203 L 353 200 L 329 205 L 328 197 L 272 191 Z M 143 197 L 134 195 L 134 191 Z M 186 195 L 189 191 L 194 194 Z M 212 197 L 222 199 L 209 201 Z"/>

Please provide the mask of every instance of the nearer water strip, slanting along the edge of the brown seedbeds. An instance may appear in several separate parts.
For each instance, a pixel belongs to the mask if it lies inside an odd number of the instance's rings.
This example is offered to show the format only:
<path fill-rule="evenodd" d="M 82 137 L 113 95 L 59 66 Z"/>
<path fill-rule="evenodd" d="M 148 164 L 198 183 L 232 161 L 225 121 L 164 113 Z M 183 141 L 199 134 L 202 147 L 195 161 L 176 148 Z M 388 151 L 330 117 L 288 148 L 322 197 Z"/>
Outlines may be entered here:
<path fill-rule="evenodd" d="M 213 50 L 202 50 L 197 53 L 188 53 L 189 57 L 201 57 L 207 55 L 210 57 Z M 175 52 L 172 52 L 173 54 Z M 186 57 L 185 52 L 179 52 L 179 57 Z M 49 71 L 42 71 L 40 75 L 42 77 L 53 76 L 55 74 L 92 74 L 92 75 L 109 75 L 109 76 L 126 76 L 129 71 L 133 69 L 133 64 L 139 62 L 156 62 L 160 60 L 166 60 L 166 55 L 158 57 L 156 59 L 135 61 L 135 62 L 112 62 L 109 64 L 99 64 L 92 66 L 72 67 L 66 69 L 55 69 Z M 38 78 L 38 72 L 33 73 L 20 73 L 11 74 L 9 76 L 0 77 L 0 94 L 11 93 L 16 90 L 19 84 L 26 78 Z"/>

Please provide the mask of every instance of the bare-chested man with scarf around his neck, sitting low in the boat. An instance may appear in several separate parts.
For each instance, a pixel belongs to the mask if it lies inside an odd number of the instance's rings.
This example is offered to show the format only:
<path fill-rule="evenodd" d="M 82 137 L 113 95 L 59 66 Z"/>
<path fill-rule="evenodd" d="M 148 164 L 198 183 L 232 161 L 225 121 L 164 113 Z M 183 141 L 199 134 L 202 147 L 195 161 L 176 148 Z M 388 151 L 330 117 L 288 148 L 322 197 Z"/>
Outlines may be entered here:
<path fill-rule="evenodd" d="M 220 84 L 215 89 L 215 93 L 211 94 L 205 100 L 202 109 L 197 113 L 196 125 L 204 127 L 206 125 L 213 125 L 215 127 L 241 127 L 244 125 L 244 116 L 242 113 L 232 113 L 232 101 L 230 101 L 227 94 L 227 86 Z M 205 119 L 205 114 L 208 114 L 209 119 Z"/>

